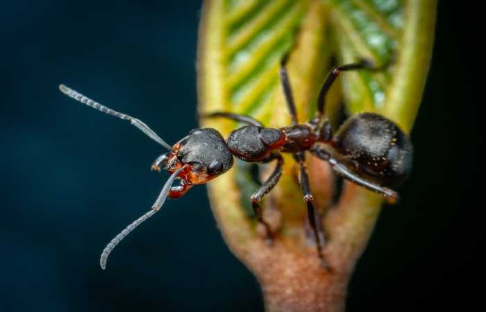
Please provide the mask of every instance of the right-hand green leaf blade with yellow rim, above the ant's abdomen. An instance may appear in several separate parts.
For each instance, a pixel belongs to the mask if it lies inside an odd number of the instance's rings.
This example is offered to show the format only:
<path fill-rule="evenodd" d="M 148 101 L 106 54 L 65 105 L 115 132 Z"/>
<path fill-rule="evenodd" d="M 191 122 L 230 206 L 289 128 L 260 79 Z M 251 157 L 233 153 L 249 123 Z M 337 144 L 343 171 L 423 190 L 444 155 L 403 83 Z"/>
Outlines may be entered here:
<path fill-rule="evenodd" d="M 341 63 L 367 58 L 383 71 L 342 77 L 349 112 L 384 114 L 410 131 L 433 44 L 435 1 L 333 0 L 331 23 Z"/>

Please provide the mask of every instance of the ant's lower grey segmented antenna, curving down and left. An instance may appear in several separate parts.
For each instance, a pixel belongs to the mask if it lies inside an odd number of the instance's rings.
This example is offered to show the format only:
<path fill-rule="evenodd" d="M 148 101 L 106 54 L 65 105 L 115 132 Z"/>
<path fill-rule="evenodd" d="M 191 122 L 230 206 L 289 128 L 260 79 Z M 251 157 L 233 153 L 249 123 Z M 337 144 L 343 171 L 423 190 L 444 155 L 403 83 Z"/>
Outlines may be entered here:
<path fill-rule="evenodd" d="M 103 249 L 103 252 L 101 252 L 101 258 L 99 259 L 99 264 L 101 265 L 101 268 L 104 270 L 106 268 L 106 261 L 108 261 L 108 256 L 112 252 L 112 250 L 117 247 L 119 242 L 124 239 L 130 232 L 135 229 L 135 227 L 139 226 L 140 223 L 144 222 L 144 220 L 150 218 L 154 214 L 156 214 L 157 211 L 159 211 L 160 207 L 164 205 L 165 199 L 167 198 L 167 195 L 169 193 L 169 189 L 172 186 L 172 183 L 174 183 L 174 180 L 176 180 L 177 175 L 183 171 L 185 167 L 183 166 L 182 168 L 179 168 L 177 171 L 172 173 L 172 175 L 169 177 L 169 180 L 165 182 L 164 187 L 162 187 L 162 191 L 160 191 L 160 194 L 156 200 L 156 202 L 153 203 L 152 209 L 141 216 L 140 218 L 137 218 L 137 220 L 133 221 L 128 227 L 125 227 L 123 231 L 121 231 L 117 236 L 115 236 L 114 239 L 106 245 L 105 249 Z"/>

